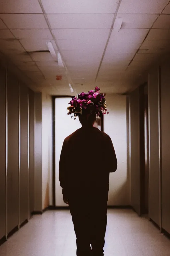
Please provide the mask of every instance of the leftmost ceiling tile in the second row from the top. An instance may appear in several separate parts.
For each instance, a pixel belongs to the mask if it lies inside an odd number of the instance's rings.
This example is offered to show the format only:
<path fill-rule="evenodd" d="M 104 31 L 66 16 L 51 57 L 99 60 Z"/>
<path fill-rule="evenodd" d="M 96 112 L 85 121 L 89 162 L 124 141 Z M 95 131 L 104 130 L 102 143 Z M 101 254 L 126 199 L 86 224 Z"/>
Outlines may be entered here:
<path fill-rule="evenodd" d="M 0 14 L 9 29 L 46 29 L 43 14 Z"/>

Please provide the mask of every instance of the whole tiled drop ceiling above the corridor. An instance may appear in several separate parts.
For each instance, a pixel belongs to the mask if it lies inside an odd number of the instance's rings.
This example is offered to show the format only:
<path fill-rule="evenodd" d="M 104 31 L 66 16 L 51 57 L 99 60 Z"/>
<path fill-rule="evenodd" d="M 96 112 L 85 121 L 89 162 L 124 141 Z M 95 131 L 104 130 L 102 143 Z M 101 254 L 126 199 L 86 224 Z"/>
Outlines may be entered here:
<path fill-rule="evenodd" d="M 0 51 L 35 91 L 71 94 L 69 79 L 76 93 L 96 85 L 105 93 L 126 93 L 170 52 L 170 1 L 1 0 Z"/>

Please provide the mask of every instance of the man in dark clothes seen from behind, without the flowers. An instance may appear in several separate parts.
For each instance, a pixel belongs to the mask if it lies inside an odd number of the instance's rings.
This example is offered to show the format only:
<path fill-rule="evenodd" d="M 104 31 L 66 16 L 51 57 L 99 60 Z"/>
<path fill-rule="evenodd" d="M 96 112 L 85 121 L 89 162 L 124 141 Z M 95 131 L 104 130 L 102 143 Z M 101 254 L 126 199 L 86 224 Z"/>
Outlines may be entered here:
<path fill-rule="evenodd" d="M 86 109 L 79 120 L 82 128 L 64 140 L 59 180 L 72 215 L 77 256 L 102 256 L 109 173 L 116 171 L 117 159 L 110 137 L 93 127 L 96 112 Z"/>

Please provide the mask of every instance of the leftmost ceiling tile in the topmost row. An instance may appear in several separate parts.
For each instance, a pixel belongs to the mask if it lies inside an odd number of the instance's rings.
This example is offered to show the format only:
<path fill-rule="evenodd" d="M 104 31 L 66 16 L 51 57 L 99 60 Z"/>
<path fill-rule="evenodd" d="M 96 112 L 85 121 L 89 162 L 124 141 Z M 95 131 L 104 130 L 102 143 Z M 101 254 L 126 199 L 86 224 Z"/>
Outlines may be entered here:
<path fill-rule="evenodd" d="M 1 0 L 1 13 L 43 13 L 36 0 Z"/>

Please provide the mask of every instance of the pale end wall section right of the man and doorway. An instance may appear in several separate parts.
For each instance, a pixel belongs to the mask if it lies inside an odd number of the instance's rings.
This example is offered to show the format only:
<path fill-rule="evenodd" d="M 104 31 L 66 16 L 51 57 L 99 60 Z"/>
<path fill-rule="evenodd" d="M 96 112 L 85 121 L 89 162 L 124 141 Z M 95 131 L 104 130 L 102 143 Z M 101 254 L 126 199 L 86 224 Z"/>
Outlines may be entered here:
<path fill-rule="evenodd" d="M 110 174 L 108 205 L 130 205 L 126 96 L 108 94 L 106 104 L 109 114 L 104 116 L 104 132 L 111 137 L 118 160 L 117 171 Z"/>

